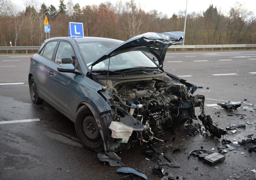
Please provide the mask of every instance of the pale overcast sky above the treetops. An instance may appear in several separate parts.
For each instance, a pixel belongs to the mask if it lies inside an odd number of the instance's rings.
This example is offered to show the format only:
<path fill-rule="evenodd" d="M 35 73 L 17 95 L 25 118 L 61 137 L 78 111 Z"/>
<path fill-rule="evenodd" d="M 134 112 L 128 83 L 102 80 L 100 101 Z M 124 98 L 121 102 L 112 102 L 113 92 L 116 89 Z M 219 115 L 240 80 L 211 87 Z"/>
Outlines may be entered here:
<path fill-rule="evenodd" d="M 59 0 L 22 0 L 23 1 L 23 7 L 20 4 L 20 0 L 12 0 L 14 3 L 17 4 L 17 6 L 24 8 L 26 7 L 24 4 L 26 4 L 26 1 L 35 1 L 39 6 L 44 2 L 47 6 L 50 6 L 52 4 L 56 7 L 56 9 L 59 9 Z M 64 0 L 64 3 L 66 4 L 69 0 Z M 72 0 L 73 4 L 79 3 L 80 7 L 84 7 L 86 5 L 99 5 L 100 3 L 106 2 L 106 0 L 93 0 L 93 1 L 86 1 L 86 0 Z M 118 0 L 119 1 L 119 0 Z M 127 0 L 121 0 L 123 2 L 126 2 Z M 128 0 L 130 1 L 130 0 Z M 255 13 L 256 11 L 256 0 L 135 0 L 136 3 L 140 3 L 141 7 L 145 9 L 146 12 L 156 9 L 158 12 L 162 11 L 163 13 L 167 14 L 168 17 L 171 17 L 173 13 L 178 14 L 178 12 L 185 11 L 186 9 L 186 1 L 187 1 L 187 13 L 192 13 L 195 11 L 203 12 L 205 11 L 210 4 L 213 4 L 213 6 L 217 7 L 218 10 L 222 10 L 222 12 L 228 13 L 230 10 L 230 7 L 234 7 L 234 4 L 236 2 L 241 3 L 245 8 L 248 10 L 251 10 Z M 116 4 L 117 0 L 111 0 L 112 4 Z"/>

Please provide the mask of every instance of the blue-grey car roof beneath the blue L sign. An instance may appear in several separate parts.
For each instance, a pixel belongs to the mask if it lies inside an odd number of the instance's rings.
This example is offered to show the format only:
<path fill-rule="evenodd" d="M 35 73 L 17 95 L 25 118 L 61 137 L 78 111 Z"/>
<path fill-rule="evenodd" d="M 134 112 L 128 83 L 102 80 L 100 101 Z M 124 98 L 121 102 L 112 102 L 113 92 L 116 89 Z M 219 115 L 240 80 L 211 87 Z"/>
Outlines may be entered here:
<path fill-rule="evenodd" d="M 117 40 L 117 39 L 110 39 L 110 38 L 99 38 L 99 37 L 83 37 L 83 38 L 69 38 L 69 37 L 56 37 L 56 38 L 50 38 L 44 41 L 44 43 L 47 43 L 48 41 L 53 40 L 66 40 L 66 41 L 75 41 L 75 42 L 120 42 L 123 41 Z"/>

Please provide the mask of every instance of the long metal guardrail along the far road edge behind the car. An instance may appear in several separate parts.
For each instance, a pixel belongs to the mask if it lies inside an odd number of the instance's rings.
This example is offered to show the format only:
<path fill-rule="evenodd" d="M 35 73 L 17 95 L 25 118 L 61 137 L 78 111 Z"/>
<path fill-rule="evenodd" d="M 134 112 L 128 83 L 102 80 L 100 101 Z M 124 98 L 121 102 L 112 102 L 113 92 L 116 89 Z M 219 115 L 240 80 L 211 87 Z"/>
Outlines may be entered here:
<path fill-rule="evenodd" d="M 26 50 L 26 53 L 28 50 L 38 50 L 40 46 L 0 46 L 0 50 Z M 256 44 L 223 44 L 223 45 L 172 45 L 169 47 L 169 49 L 174 49 L 176 51 L 176 49 L 184 49 L 184 51 L 186 51 L 186 49 L 194 49 L 194 51 L 196 49 L 203 49 L 203 51 L 205 49 L 209 49 L 211 48 L 213 51 L 213 48 L 241 48 L 243 47 L 244 50 L 248 47 L 251 47 L 251 49 L 253 49 L 253 47 L 256 47 Z"/>

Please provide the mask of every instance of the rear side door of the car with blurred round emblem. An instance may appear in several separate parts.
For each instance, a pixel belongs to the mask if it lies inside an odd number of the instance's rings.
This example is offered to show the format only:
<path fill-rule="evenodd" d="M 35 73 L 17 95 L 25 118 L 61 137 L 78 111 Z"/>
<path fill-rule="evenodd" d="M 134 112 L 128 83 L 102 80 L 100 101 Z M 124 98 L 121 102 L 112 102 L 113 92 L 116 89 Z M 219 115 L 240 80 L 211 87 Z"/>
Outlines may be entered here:
<path fill-rule="evenodd" d="M 50 41 L 41 49 L 38 55 L 33 56 L 34 78 L 37 83 L 38 93 L 46 100 L 49 99 L 48 66 L 58 41 Z"/>

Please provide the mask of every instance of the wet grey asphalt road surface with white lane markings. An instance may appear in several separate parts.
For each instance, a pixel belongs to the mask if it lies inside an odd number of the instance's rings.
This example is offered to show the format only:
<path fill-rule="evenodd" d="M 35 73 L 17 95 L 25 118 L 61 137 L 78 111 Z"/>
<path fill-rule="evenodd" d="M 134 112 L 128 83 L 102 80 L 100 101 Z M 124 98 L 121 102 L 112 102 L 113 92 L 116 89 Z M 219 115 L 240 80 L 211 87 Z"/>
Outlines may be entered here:
<path fill-rule="evenodd" d="M 78 140 L 74 124 L 47 103 L 35 105 L 29 96 L 28 72 L 30 55 L 0 55 L 0 179 L 120 179 L 118 167 L 110 167 L 97 158 L 97 153 L 85 149 Z M 166 145 L 179 146 L 174 152 L 179 168 L 164 165 L 166 172 L 195 180 L 255 179 L 256 153 L 238 146 L 225 153 L 223 163 L 209 165 L 198 157 L 188 158 L 188 152 L 204 149 L 218 152 L 225 148 L 222 139 L 232 142 L 256 137 L 256 51 L 177 52 L 167 53 L 164 70 L 202 86 L 197 94 L 206 97 L 205 109 L 215 125 L 225 128 L 245 124 L 221 139 L 201 135 L 188 136 L 184 126 L 175 127 L 162 137 Z M 227 116 L 216 103 L 242 102 L 237 114 Z M 218 113 L 216 113 L 218 112 Z M 196 111 L 200 114 L 200 110 Z M 3 124 L 13 120 L 25 120 Z M 194 120 L 194 123 L 200 121 Z M 171 141 L 175 132 L 175 141 Z M 134 145 L 118 154 L 126 167 L 161 179 L 152 172 L 157 166 L 141 153 L 148 144 Z M 215 150 L 212 150 L 212 149 Z"/>

